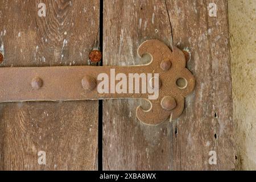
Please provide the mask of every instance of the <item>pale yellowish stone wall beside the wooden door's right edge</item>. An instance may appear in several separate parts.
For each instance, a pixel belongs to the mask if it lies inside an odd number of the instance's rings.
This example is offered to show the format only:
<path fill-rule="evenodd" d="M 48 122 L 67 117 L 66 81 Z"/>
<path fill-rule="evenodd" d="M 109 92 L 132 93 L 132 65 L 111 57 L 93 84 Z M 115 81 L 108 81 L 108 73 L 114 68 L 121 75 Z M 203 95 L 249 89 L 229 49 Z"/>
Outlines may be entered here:
<path fill-rule="evenodd" d="M 256 1 L 229 0 L 237 169 L 256 169 Z"/>

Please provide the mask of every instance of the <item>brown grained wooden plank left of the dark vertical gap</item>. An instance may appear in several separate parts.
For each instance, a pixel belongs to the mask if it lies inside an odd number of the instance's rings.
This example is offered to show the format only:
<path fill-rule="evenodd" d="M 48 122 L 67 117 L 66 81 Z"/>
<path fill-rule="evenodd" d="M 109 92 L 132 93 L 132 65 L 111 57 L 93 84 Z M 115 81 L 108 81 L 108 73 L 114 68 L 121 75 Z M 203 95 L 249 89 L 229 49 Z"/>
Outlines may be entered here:
<path fill-rule="evenodd" d="M 46 17 L 38 4 L 46 3 Z M 99 1 L 1 1 L 2 67 L 84 65 L 97 44 Z M 98 102 L 0 105 L 0 169 L 97 169 Z M 46 152 L 46 165 L 38 152 Z"/>

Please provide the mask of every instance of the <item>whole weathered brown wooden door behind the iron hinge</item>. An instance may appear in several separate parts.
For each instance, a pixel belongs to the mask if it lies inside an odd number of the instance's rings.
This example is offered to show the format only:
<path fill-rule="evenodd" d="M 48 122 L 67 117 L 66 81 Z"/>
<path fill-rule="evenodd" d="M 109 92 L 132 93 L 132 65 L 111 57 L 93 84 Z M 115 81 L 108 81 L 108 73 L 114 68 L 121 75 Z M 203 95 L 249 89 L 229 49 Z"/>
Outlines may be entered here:
<path fill-rule="evenodd" d="M 46 16 L 38 15 L 40 3 Z M 234 169 L 227 7 L 225 0 L 1 1 L 1 67 L 85 65 L 100 35 L 104 65 L 144 64 L 139 45 L 159 39 L 188 47 L 196 88 L 181 117 L 157 126 L 136 118 L 137 106 L 148 107 L 143 100 L 109 100 L 103 108 L 98 101 L 0 104 L 0 169 Z"/>

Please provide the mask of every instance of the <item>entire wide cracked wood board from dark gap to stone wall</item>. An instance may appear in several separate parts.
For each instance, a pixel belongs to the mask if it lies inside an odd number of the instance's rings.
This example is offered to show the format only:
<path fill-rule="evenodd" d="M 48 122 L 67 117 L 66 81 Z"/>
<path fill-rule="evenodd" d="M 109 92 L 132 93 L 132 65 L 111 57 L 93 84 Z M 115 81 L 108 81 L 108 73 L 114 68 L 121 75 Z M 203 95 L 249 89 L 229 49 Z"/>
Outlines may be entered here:
<path fill-rule="evenodd" d="M 210 1 L 105 1 L 104 64 L 143 64 L 137 48 L 155 38 L 189 47 L 197 84 L 181 117 L 156 127 L 136 119 L 141 101 L 104 101 L 104 169 L 234 169 L 227 2 L 213 2 L 217 17 L 208 15 Z"/>

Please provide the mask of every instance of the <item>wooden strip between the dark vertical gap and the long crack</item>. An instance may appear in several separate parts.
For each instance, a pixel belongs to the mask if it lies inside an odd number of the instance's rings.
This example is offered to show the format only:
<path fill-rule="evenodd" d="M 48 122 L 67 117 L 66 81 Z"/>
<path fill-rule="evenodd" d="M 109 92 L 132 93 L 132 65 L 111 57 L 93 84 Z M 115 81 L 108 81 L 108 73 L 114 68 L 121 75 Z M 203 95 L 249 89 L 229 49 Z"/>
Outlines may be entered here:
<path fill-rule="evenodd" d="M 171 46 L 164 1 L 104 1 L 104 64 L 137 65 L 137 49 L 157 38 Z M 147 126 L 135 109 L 139 100 L 104 101 L 103 168 L 108 170 L 172 169 L 172 123 Z"/>

